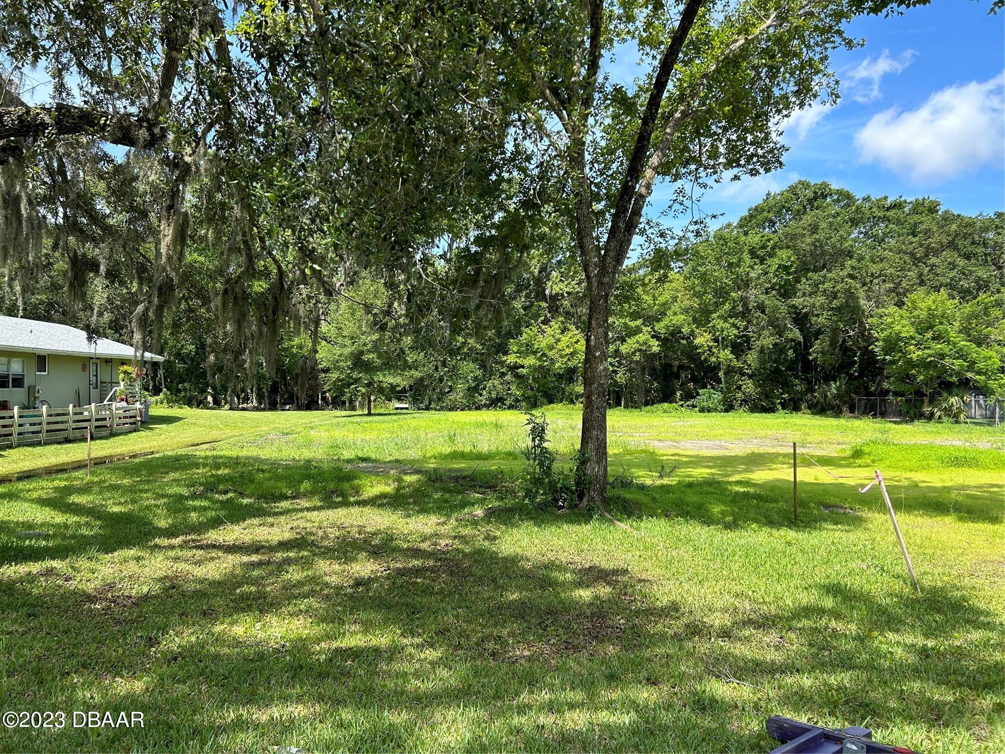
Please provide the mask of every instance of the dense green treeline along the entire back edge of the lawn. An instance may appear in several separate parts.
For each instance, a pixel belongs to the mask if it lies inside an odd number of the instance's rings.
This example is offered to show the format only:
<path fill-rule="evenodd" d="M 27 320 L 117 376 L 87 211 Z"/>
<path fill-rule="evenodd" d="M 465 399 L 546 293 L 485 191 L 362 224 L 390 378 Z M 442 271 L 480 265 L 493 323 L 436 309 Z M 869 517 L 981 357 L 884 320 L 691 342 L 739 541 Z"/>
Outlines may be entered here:
<path fill-rule="evenodd" d="M 737 222 L 626 267 L 612 300 L 611 404 L 840 412 L 852 394 L 999 393 L 1003 238 L 1005 213 L 970 217 L 933 199 L 795 183 Z M 22 301 L 8 293 L 3 313 L 129 340 L 128 271 L 106 264 L 73 317 L 62 282 L 72 272 L 55 247 L 46 241 L 45 285 Z M 486 248 L 512 258 L 476 269 L 468 260 Z M 496 220 L 418 280 L 350 275 L 277 334 L 274 370 L 260 360 L 251 379 L 242 352 L 233 363 L 219 356 L 235 334 L 220 327 L 210 295 L 212 253 L 190 251 L 165 324 L 164 385 L 175 400 L 310 407 L 408 392 L 414 406 L 462 409 L 582 396 L 583 273 L 555 218 Z M 496 279 L 472 279 L 479 272 Z M 264 295 L 267 267 L 260 274 Z"/>

